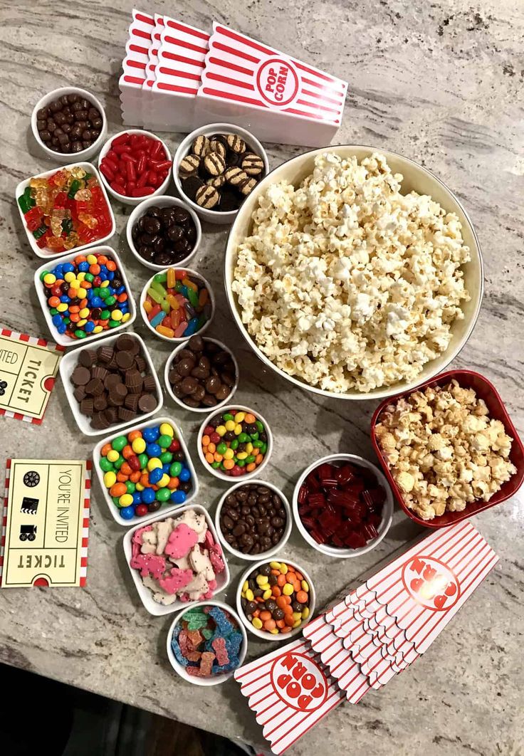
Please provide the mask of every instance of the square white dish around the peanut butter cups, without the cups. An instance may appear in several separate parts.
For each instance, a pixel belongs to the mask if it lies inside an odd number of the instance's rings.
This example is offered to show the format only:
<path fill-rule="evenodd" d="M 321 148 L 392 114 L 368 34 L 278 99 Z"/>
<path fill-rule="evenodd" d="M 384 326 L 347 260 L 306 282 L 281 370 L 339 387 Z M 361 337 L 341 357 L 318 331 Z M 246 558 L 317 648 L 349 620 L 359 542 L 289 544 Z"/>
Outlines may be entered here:
<path fill-rule="evenodd" d="M 69 401 L 71 412 L 73 413 L 73 417 L 75 418 L 76 425 L 79 426 L 79 429 L 85 435 L 101 435 L 102 433 L 108 432 L 116 433 L 116 431 L 131 426 L 133 425 L 133 423 L 143 423 L 144 420 L 147 420 L 148 417 L 151 417 L 153 414 L 155 414 L 155 412 L 160 410 L 160 407 L 162 407 L 163 395 L 162 389 L 160 388 L 160 381 L 158 380 L 157 371 L 155 370 L 153 361 L 150 358 L 150 354 L 149 352 L 147 352 L 147 347 L 144 344 L 144 339 L 142 339 L 141 336 L 138 336 L 138 333 L 133 333 L 131 331 L 129 331 L 128 333 L 130 336 L 134 336 L 135 339 L 138 339 L 138 342 L 140 342 L 141 354 L 144 355 L 144 360 L 147 363 L 147 370 L 151 373 L 155 381 L 158 401 L 157 407 L 155 407 L 153 411 L 146 412 L 143 415 L 135 417 L 134 420 L 127 420 L 125 423 L 116 423 L 116 425 L 110 426 L 109 428 L 104 428 L 102 430 L 95 430 L 94 428 L 91 428 L 91 425 L 89 424 L 89 418 L 85 415 L 82 415 L 79 409 L 79 403 L 73 396 L 75 387 L 73 386 L 73 383 L 71 383 L 70 378 L 73 374 L 73 370 L 76 367 L 79 354 L 83 349 L 98 349 L 101 346 L 109 346 L 113 344 L 113 342 L 115 342 L 116 339 L 118 339 L 118 337 L 122 335 L 122 333 L 116 333 L 115 336 L 107 336 L 105 339 L 100 339 L 100 341 L 93 345 L 93 347 L 91 347 L 91 344 L 86 344 L 85 346 L 82 345 L 82 347 L 80 347 L 79 349 L 72 349 L 70 352 L 67 352 L 67 354 L 64 355 L 64 357 L 60 360 L 60 378 L 62 379 L 62 383 L 64 384 L 64 391 L 66 392 L 67 401 Z"/>

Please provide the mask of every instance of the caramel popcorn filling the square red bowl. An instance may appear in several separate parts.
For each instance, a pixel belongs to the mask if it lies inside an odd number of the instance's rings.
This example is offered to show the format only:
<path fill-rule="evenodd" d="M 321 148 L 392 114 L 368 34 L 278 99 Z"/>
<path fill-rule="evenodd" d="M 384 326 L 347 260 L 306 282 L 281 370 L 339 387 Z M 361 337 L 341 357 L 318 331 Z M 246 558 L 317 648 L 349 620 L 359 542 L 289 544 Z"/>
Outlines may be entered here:
<path fill-rule="evenodd" d="M 516 472 L 513 438 L 456 380 L 389 404 L 375 433 L 406 505 L 422 519 L 488 501 Z"/>

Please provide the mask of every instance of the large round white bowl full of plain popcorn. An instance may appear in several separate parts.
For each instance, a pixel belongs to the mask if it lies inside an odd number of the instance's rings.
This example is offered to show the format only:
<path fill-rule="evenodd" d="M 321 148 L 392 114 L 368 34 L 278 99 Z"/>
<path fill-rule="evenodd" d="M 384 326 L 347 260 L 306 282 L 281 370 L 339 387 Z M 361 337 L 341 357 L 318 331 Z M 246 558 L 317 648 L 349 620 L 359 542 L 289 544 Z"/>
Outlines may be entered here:
<path fill-rule="evenodd" d="M 431 172 L 374 147 L 324 147 L 283 163 L 240 207 L 225 286 L 276 373 L 326 397 L 380 399 L 460 352 L 482 302 L 482 255 Z"/>

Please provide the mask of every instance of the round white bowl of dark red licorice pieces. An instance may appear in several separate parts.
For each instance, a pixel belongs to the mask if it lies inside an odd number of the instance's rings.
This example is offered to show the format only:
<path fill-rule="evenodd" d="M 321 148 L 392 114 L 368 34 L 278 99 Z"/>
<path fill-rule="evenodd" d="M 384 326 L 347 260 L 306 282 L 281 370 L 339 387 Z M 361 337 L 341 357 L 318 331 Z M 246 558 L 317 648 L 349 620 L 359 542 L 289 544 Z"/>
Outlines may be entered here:
<path fill-rule="evenodd" d="M 348 559 L 383 540 L 392 521 L 393 494 L 373 463 L 356 454 L 330 454 L 299 477 L 293 516 L 312 547 Z"/>

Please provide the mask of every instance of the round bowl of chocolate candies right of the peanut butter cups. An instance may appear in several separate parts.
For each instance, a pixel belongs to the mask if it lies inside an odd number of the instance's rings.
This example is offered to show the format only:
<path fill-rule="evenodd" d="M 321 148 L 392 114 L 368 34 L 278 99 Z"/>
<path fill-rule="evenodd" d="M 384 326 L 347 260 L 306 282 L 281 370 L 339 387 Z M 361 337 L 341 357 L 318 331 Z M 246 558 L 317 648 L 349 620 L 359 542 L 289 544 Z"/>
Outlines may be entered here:
<path fill-rule="evenodd" d="M 172 399 L 192 412 L 228 404 L 238 386 L 238 363 L 228 347 L 209 336 L 191 336 L 169 356 L 164 382 Z"/>

